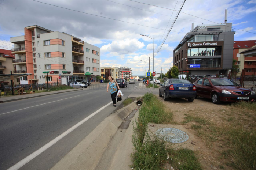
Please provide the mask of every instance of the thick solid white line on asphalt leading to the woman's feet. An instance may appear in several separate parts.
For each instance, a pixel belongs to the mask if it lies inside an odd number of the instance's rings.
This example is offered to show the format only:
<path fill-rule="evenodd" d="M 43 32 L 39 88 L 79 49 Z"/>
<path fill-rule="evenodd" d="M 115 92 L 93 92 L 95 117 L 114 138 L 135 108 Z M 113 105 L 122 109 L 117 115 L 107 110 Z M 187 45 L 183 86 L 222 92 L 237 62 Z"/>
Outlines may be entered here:
<path fill-rule="evenodd" d="M 92 113 L 90 116 L 86 117 L 85 119 L 83 119 L 82 121 L 78 122 L 76 125 L 72 126 L 71 128 L 69 128 L 67 131 L 63 132 L 61 135 L 59 135 L 58 137 L 56 137 L 55 139 L 53 139 L 52 141 L 50 141 L 49 143 L 47 143 L 45 146 L 41 147 L 40 149 L 36 150 L 35 152 L 33 152 L 32 154 L 30 154 L 29 156 L 27 156 L 26 158 L 22 159 L 21 161 L 19 161 L 18 163 L 16 163 L 14 166 L 8 168 L 7 170 L 17 170 L 19 168 L 21 168 L 22 166 L 24 166 L 26 163 L 28 163 L 30 160 L 36 158 L 36 156 L 38 156 L 39 154 L 41 154 L 42 152 L 44 152 L 45 150 L 47 150 L 48 148 L 50 148 L 52 145 L 54 145 L 56 142 L 58 142 L 59 140 L 61 140 L 63 137 L 65 137 L 67 134 L 69 134 L 70 132 L 72 132 L 74 129 L 76 129 L 78 126 L 80 126 L 81 124 L 83 124 L 84 122 L 86 122 L 87 120 L 89 120 L 89 118 L 91 118 L 92 116 L 94 116 L 95 114 L 99 113 L 101 110 L 105 109 L 108 105 L 110 105 L 112 102 L 108 103 L 107 105 L 101 107 L 99 110 L 97 110 L 96 112 Z"/>

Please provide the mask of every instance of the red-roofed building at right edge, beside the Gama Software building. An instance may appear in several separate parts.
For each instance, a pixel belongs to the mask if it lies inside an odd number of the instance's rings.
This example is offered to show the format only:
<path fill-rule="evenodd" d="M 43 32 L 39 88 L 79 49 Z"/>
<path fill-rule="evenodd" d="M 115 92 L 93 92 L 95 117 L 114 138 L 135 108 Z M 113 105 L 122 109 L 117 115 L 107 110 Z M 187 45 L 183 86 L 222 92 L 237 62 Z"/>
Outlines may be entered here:
<path fill-rule="evenodd" d="M 233 58 L 239 65 L 238 72 L 245 69 L 245 75 L 253 75 L 256 69 L 256 40 L 234 41 Z"/>

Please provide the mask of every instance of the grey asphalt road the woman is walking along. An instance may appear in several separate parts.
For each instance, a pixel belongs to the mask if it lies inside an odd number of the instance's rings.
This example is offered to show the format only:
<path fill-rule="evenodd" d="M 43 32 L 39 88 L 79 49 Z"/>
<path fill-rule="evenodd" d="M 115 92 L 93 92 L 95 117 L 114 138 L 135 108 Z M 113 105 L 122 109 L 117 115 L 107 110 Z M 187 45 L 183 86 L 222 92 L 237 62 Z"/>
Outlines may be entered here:
<path fill-rule="evenodd" d="M 122 100 L 139 82 L 121 88 Z M 111 102 L 106 83 L 0 104 L 0 169 L 8 169 Z M 110 90 L 109 90 L 110 91 Z M 117 106 L 120 102 L 117 102 Z M 50 169 L 118 107 L 108 105 L 20 169 Z"/>

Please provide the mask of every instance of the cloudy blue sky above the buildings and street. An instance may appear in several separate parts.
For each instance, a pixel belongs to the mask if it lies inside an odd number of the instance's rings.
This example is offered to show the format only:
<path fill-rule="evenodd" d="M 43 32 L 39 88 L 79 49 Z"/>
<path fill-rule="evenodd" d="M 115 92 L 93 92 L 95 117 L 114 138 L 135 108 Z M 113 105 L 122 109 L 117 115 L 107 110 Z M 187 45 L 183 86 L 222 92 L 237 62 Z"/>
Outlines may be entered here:
<path fill-rule="evenodd" d="M 151 72 L 154 68 L 166 73 L 173 66 L 173 49 L 191 24 L 224 23 L 225 8 L 227 22 L 236 32 L 234 40 L 256 40 L 256 0 L 182 4 L 183 0 L 0 0 L 0 48 L 11 50 L 10 37 L 38 25 L 99 47 L 100 67 L 130 67 L 134 76 L 140 76 L 150 60 Z"/>

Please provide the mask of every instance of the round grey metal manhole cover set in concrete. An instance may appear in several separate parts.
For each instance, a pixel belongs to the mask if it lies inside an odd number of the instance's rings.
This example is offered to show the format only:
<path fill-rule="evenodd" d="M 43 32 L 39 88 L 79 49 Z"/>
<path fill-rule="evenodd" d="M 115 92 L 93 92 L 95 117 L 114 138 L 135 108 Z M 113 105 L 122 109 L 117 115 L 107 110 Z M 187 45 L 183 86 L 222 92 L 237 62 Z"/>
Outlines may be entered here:
<path fill-rule="evenodd" d="M 175 128 L 158 129 L 156 135 L 158 138 L 171 143 L 182 143 L 189 139 L 187 133 Z"/>

